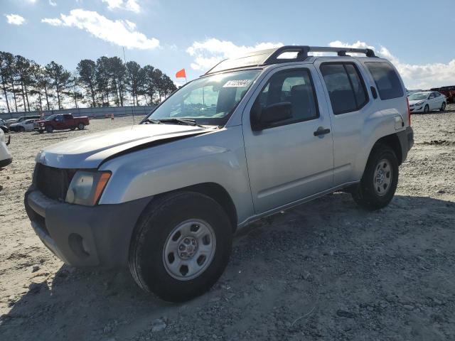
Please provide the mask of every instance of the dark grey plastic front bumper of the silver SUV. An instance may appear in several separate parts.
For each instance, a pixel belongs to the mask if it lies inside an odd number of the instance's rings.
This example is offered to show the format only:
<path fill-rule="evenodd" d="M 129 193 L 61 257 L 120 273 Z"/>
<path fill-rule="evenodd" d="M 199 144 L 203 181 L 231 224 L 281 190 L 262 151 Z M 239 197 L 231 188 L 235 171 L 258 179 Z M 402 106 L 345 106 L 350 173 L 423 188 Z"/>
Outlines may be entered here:
<path fill-rule="evenodd" d="M 31 185 L 25 206 L 38 237 L 65 264 L 117 268 L 127 265 L 134 226 L 150 200 L 71 205 L 51 200 Z"/>

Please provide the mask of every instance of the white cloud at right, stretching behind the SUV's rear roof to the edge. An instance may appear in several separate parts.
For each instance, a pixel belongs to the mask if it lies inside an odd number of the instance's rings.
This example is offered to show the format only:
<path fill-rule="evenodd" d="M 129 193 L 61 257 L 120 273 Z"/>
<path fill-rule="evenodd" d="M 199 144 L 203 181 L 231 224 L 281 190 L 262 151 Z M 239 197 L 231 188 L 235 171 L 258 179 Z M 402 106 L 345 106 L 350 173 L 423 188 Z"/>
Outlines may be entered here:
<path fill-rule="evenodd" d="M 387 58 L 397 67 L 408 89 L 429 89 L 455 84 L 455 59 L 449 63 L 409 64 L 403 63 L 399 58 L 390 53 L 384 46 L 375 46 L 358 41 L 357 43 L 343 43 L 339 40 L 329 43 L 330 46 L 346 48 L 371 48 L 377 55 Z"/>

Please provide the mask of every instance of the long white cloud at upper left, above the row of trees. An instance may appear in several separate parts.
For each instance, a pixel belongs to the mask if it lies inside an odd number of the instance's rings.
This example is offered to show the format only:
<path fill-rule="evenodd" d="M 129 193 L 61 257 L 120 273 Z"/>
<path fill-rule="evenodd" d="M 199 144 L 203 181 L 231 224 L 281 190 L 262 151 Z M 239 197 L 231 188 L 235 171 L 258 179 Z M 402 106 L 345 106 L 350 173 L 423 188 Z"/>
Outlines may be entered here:
<path fill-rule="evenodd" d="M 41 22 L 52 26 L 76 27 L 125 48 L 150 50 L 159 47 L 158 39 L 147 38 L 144 33 L 135 31 L 135 23 L 123 20 L 112 21 L 95 11 L 73 9 L 68 16 L 60 14 L 60 18 L 43 18 Z"/>

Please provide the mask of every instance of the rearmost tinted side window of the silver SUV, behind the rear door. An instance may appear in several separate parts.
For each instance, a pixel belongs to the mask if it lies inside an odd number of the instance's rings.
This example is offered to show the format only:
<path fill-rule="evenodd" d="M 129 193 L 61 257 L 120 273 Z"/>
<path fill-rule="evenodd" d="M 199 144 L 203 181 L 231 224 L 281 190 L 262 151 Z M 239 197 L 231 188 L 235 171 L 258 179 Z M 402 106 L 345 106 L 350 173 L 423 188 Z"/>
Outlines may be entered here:
<path fill-rule="evenodd" d="M 400 78 L 393 67 L 388 63 L 365 63 L 370 70 L 381 99 L 402 97 L 403 88 Z"/>

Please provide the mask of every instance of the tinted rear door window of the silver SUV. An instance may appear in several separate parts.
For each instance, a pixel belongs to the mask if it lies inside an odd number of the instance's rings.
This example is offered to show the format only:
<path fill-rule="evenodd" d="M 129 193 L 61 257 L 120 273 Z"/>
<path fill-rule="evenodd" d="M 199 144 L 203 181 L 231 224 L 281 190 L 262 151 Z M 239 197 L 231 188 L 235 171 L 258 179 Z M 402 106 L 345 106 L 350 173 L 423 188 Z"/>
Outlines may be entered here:
<path fill-rule="evenodd" d="M 368 102 L 357 68 L 349 63 L 324 63 L 321 73 L 326 82 L 333 114 L 355 112 Z"/>

